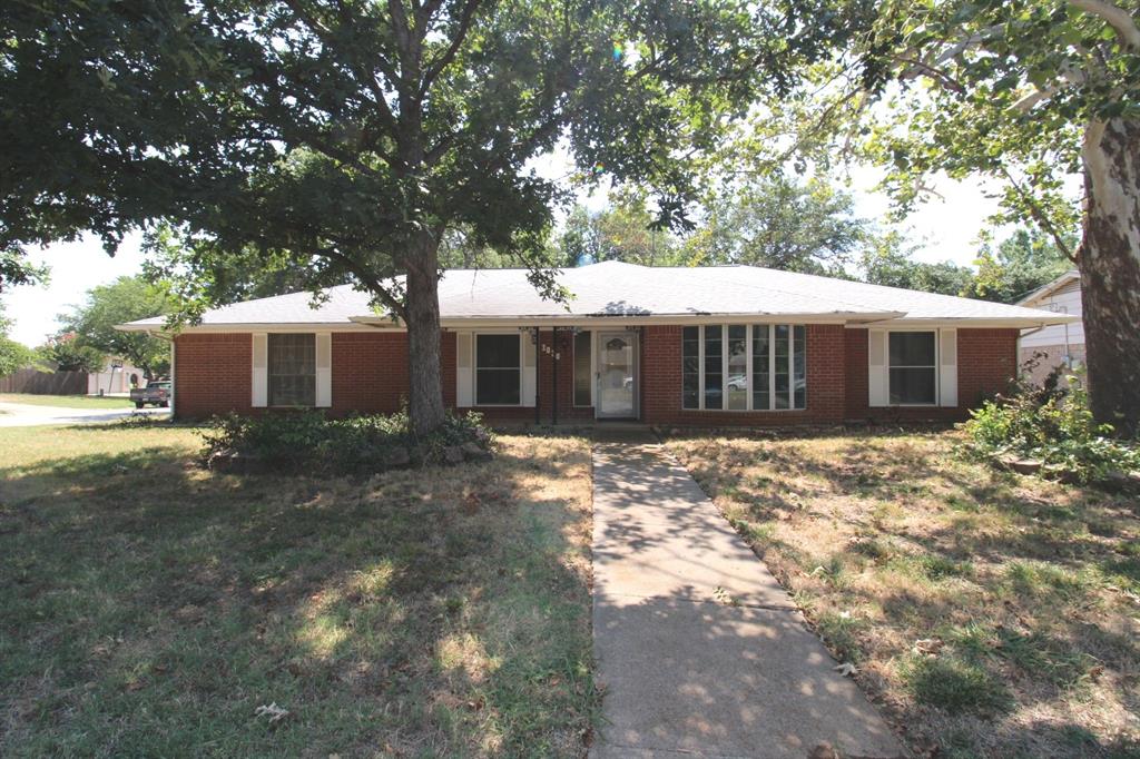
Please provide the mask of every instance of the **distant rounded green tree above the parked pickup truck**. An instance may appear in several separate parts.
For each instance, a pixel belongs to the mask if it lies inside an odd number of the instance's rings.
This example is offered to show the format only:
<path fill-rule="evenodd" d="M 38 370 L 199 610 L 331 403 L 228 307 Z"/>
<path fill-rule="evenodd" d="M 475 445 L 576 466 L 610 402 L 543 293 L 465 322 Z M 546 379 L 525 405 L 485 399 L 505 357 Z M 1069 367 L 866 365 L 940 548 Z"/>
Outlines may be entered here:
<path fill-rule="evenodd" d="M 120 277 L 89 289 L 85 302 L 59 320 L 80 346 L 124 359 L 153 378 L 170 370 L 170 343 L 144 332 L 121 332 L 115 325 L 163 316 L 169 304 L 163 287 L 144 277 Z"/>

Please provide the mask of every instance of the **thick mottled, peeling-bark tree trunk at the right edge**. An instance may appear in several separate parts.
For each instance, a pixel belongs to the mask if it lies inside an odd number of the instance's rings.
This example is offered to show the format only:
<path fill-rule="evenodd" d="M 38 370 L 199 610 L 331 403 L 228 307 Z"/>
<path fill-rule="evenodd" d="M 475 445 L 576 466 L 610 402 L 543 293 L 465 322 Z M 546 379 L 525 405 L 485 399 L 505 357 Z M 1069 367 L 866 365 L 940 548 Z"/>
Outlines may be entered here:
<path fill-rule="evenodd" d="M 1140 426 L 1140 121 L 1089 125 L 1082 150 L 1088 213 L 1081 245 L 1092 413 Z"/>

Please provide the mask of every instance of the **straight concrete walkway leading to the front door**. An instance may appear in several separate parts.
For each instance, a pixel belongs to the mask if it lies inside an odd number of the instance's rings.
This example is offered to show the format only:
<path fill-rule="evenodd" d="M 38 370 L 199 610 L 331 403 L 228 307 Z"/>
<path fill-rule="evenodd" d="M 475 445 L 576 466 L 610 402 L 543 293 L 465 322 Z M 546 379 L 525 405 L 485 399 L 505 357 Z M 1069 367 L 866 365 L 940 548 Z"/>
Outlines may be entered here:
<path fill-rule="evenodd" d="M 594 447 L 594 647 L 595 759 L 903 756 L 772 573 L 644 432 L 600 431 Z"/>

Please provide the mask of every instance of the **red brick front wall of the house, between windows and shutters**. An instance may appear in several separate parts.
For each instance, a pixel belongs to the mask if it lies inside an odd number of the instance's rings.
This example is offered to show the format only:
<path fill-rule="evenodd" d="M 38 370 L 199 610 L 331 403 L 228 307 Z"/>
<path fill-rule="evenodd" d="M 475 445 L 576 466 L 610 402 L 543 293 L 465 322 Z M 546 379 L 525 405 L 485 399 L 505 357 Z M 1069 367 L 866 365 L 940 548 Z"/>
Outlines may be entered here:
<path fill-rule="evenodd" d="M 844 419 L 955 419 L 982 398 L 1003 390 L 1017 366 L 1016 329 L 959 329 L 959 400 L 955 409 L 868 407 L 866 330 L 840 325 L 807 326 L 807 408 L 792 411 L 694 411 L 681 408 L 681 327 L 645 327 L 641 333 L 641 417 L 651 424 L 785 425 L 832 424 Z M 333 334 L 332 414 L 397 410 L 408 392 L 406 335 L 399 332 Z M 553 333 L 542 333 L 551 346 Z M 252 338 L 249 334 L 186 334 L 174 342 L 176 411 L 197 418 L 225 411 L 250 413 Z M 559 334 L 559 421 L 588 421 L 593 408 L 573 407 L 573 344 Z M 455 407 L 456 338 L 440 342 L 443 401 Z M 540 350 L 539 413 L 552 418 L 554 358 Z M 490 421 L 534 422 L 534 408 L 484 408 Z"/>

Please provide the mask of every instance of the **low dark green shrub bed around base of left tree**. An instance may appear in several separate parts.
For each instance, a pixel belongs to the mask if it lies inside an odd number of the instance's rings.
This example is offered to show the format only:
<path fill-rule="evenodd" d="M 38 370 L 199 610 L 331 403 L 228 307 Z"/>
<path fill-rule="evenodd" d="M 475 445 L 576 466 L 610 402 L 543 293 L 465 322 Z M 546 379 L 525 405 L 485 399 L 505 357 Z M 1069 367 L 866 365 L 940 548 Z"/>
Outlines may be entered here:
<path fill-rule="evenodd" d="M 448 448 L 474 443 L 489 450 L 490 430 L 475 413 L 448 415 L 427 436 L 412 432 L 407 410 L 396 414 L 327 418 L 324 411 L 262 416 L 228 414 L 210 421 L 203 432 L 203 460 L 238 454 L 261 466 L 309 474 L 378 471 L 397 464 L 443 460 Z"/>

